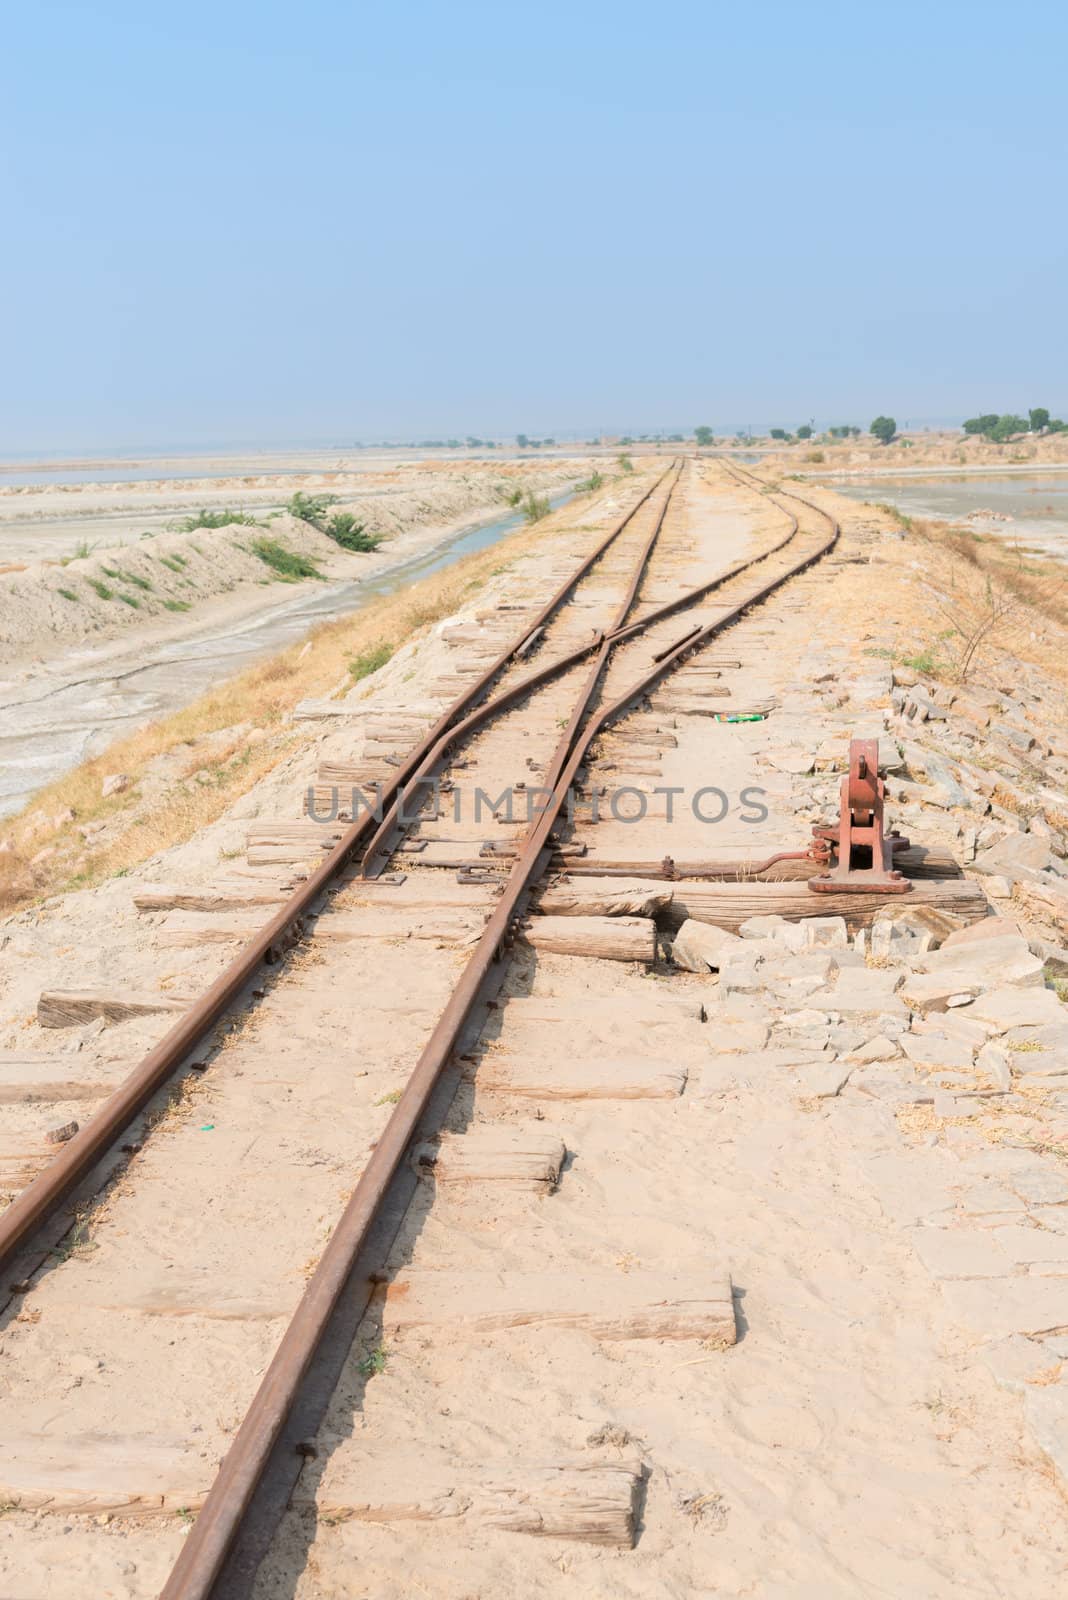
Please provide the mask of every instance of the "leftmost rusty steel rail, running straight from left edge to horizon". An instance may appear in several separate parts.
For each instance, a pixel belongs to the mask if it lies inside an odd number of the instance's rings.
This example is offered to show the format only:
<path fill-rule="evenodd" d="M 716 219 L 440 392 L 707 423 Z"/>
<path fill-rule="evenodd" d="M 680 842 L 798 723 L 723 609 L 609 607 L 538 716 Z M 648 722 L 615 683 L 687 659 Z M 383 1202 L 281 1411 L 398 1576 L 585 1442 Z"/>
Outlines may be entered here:
<path fill-rule="evenodd" d="M 523 634 L 483 672 L 478 682 L 460 694 L 433 725 L 430 733 L 408 755 L 398 768 L 397 776 L 384 790 L 384 797 L 392 800 L 420 766 L 425 752 L 433 749 L 446 730 L 464 715 L 492 685 L 508 662 L 518 654 L 521 646 L 542 627 L 555 611 L 568 600 L 571 590 L 579 584 L 590 568 L 616 542 L 628 523 L 638 515 L 641 507 L 652 498 L 660 485 L 676 470 L 676 464 L 665 470 L 649 485 L 632 509 L 614 525 L 604 539 L 587 555 L 574 573 L 560 586 L 550 600 L 542 606 L 534 622 L 523 627 Z M 595 646 L 588 646 L 595 648 Z M 357 818 L 337 840 L 329 854 L 310 874 L 310 877 L 289 896 L 285 906 L 261 928 L 261 931 L 243 946 L 229 966 L 200 995 L 179 1021 L 163 1035 L 147 1056 L 144 1056 L 130 1077 L 115 1090 L 104 1106 L 86 1125 L 64 1144 L 43 1173 L 38 1174 L 18 1195 L 16 1200 L 0 1216 L 0 1267 L 6 1269 L 16 1253 L 29 1242 L 51 1213 L 67 1198 L 67 1195 L 93 1171 L 96 1163 L 107 1154 L 115 1141 L 123 1134 L 134 1117 L 144 1110 L 152 1096 L 177 1072 L 182 1061 L 203 1043 L 205 1035 L 219 1021 L 229 1005 L 238 997 L 241 989 L 251 981 L 259 966 L 267 960 L 269 952 L 280 947 L 286 933 L 317 901 L 321 891 L 345 867 L 352 853 L 363 845 L 373 829 L 374 818 L 368 813 Z"/>

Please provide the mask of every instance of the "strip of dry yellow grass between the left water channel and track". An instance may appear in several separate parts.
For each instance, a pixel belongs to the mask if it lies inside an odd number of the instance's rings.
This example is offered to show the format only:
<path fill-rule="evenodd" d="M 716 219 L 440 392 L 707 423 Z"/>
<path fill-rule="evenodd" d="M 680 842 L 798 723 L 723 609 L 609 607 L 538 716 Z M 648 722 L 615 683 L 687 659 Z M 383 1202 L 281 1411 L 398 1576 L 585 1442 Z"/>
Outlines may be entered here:
<path fill-rule="evenodd" d="M 22 813 L 0 824 L 0 914 L 130 872 L 149 856 L 192 838 L 299 742 L 302 734 L 285 720 L 297 701 L 350 683 L 355 656 L 382 646 L 397 650 L 456 611 L 488 578 L 542 549 L 547 538 L 563 530 L 574 530 L 566 510 L 536 528 L 518 530 L 444 573 L 325 622 L 270 661 L 118 739 L 50 784 Z M 238 725 L 261 728 L 267 738 L 248 744 L 243 733 L 235 733 L 213 742 L 209 750 L 197 750 L 197 741 Z M 182 746 L 189 746 L 184 758 Z M 173 755 L 176 763 L 161 781 L 160 765 Z M 104 800 L 101 787 L 109 773 L 126 773 L 131 782 L 123 794 Z M 74 821 L 67 813 L 74 813 Z M 88 822 L 106 824 L 99 840 L 82 835 Z M 42 851 L 48 851 L 45 859 L 34 861 Z"/>

